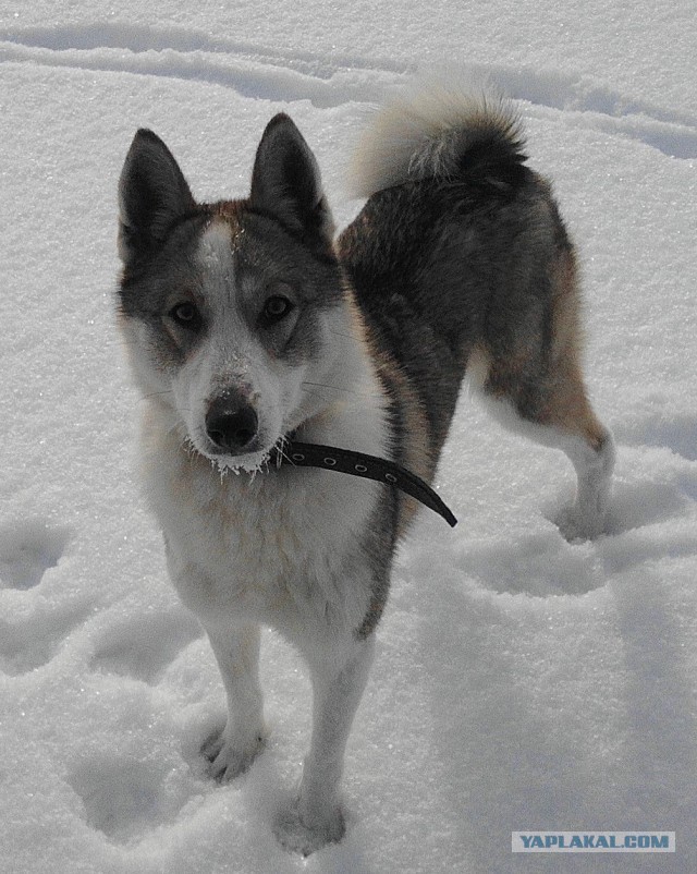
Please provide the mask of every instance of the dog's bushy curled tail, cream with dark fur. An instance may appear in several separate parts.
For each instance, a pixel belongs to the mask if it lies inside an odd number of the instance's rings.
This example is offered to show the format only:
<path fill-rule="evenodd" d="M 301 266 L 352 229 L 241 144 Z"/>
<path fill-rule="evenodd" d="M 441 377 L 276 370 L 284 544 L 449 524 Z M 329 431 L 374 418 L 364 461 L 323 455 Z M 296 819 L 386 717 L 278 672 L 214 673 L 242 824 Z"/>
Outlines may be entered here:
<path fill-rule="evenodd" d="M 407 181 L 484 174 L 502 181 L 526 156 L 521 119 L 486 84 L 420 82 L 387 102 L 358 143 L 348 171 L 355 197 Z M 493 181 L 493 180 L 492 180 Z"/>

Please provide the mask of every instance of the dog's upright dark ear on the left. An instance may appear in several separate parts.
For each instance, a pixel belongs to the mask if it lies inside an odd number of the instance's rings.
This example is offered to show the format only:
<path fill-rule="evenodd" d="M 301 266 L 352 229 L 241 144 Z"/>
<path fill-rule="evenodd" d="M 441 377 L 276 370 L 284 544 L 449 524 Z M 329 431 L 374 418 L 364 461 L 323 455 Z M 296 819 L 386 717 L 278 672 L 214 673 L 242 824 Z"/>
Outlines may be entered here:
<path fill-rule="evenodd" d="M 151 253 L 196 203 L 159 136 L 139 130 L 119 180 L 119 254 L 124 264 Z"/>

